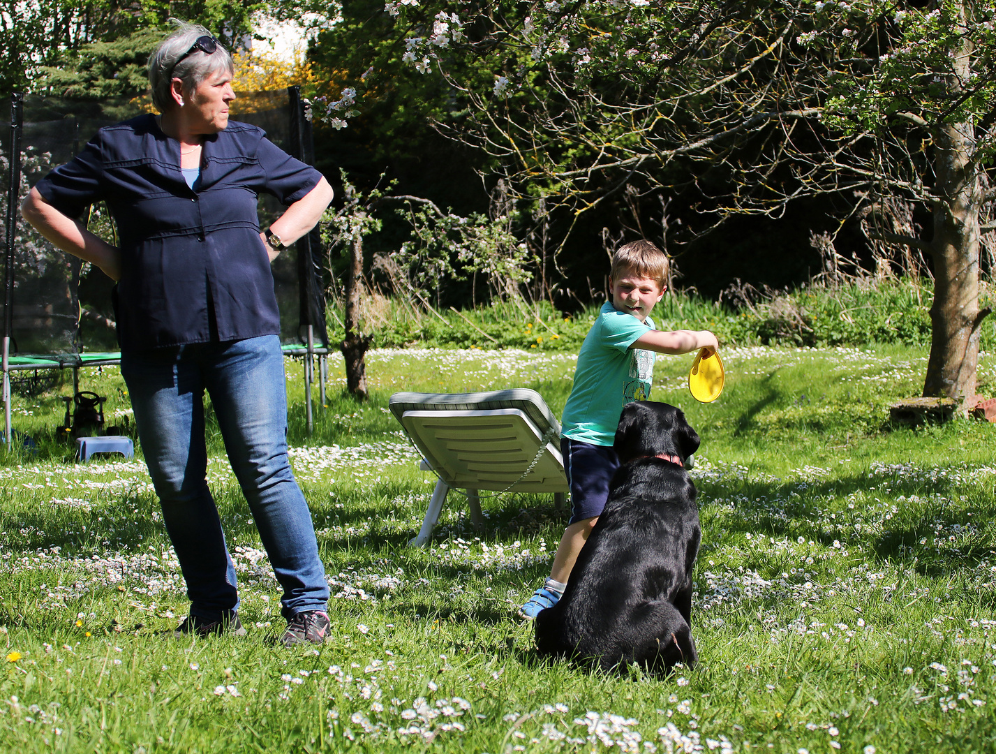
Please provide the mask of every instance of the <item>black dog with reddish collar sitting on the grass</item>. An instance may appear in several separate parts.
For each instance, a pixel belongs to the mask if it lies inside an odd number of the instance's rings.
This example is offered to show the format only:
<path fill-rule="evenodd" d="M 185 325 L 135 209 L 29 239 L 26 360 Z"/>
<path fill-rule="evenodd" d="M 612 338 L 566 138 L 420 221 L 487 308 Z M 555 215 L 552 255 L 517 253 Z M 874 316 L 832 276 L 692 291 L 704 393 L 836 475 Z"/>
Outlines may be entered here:
<path fill-rule="evenodd" d="M 673 405 L 641 400 L 622 409 L 614 445 L 621 466 L 564 597 L 536 618 L 541 654 L 606 669 L 694 664 L 691 578 L 702 533 L 683 465 L 698 444 Z"/>

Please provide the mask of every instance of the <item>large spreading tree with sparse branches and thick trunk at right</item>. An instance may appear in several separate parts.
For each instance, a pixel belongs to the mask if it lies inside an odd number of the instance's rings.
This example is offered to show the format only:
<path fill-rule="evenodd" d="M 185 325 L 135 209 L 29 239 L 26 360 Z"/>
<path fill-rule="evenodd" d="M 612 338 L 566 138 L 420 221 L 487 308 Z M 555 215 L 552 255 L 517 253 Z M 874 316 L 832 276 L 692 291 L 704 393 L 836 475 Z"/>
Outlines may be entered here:
<path fill-rule="evenodd" d="M 914 5 L 397 0 L 386 11 L 405 61 L 466 108 L 441 126 L 491 154 L 520 199 L 559 208 L 562 247 L 622 192 L 636 222 L 670 194 L 697 195 L 690 236 L 737 213 L 782 216 L 807 196 L 843 199 L 851 214 L 894 198 L 927 206 L 931 233 L 876 229 L 872 211 L 870 234 L 929 255 L 923 393 L 970 402 L 988 314 L 981 218 L 996 198 L 994 9 Z"/>

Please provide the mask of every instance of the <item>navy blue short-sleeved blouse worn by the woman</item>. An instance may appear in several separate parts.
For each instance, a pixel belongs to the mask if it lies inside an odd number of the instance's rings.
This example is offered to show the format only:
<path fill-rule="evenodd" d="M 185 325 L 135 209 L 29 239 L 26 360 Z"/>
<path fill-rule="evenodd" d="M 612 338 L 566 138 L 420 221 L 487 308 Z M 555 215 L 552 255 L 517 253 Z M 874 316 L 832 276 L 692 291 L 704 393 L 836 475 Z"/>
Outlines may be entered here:
<path fill-rule="evenodd" d="M 116 309 L 124 351 L 280 333 L 256 196 L 267 191 L 292 204 L 322 174 L 235 121 L 207 136 L 201 154 L 192 189 L 179 141 L 154 116 L 139 116 L 101 128 L 36 185 L 70 217 L 107 201 L 122 250 Z"/>

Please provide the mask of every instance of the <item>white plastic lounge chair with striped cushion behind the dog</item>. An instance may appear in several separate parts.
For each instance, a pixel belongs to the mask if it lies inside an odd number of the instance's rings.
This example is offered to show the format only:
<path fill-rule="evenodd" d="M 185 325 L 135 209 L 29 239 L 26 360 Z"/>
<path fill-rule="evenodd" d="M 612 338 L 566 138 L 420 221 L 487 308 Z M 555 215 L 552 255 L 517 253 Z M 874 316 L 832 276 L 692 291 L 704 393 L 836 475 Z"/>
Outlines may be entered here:
<path fill-rule="evenodd" d="M 467 491 L 475 526 L 483 523 L 480 490 L 553 492 L 555 505 L 570 491 L 560 452 L 560 422 L 536 390 L 395 392 L 388 402 L 423 460 L 438 477 L 425 520 L 408 544 L 424 547 L 450 488 Z"/>

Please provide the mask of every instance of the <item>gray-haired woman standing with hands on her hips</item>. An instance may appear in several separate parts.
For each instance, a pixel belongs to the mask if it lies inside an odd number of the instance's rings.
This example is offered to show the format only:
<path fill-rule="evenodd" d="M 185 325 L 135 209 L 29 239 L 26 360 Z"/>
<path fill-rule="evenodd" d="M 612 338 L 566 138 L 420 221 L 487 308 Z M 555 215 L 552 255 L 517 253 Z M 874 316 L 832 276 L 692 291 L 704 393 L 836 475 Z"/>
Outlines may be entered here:
<path fill-rule="evenodd" d="M 318 643 L 329 632 L 329 587 L 287 458 L 269 263 L 315 225 L 332 188 L 259 128 L 229 124 L 231 57 L 203 27 L 176 25 L 148 65 L 160 115 L 102 128 L 73 161 L 39 181 L 22 212 L 53 244 L 118 281 L 122 374 L 191 602 L 177 635 L 245 633 L 206 480 L 206 389 L 284 590 L 282 640 Z M 261 190 L 289 205 L 263 233 Z M 120 247 L 75 219 L 101 200 L 118 224 Z"/>

